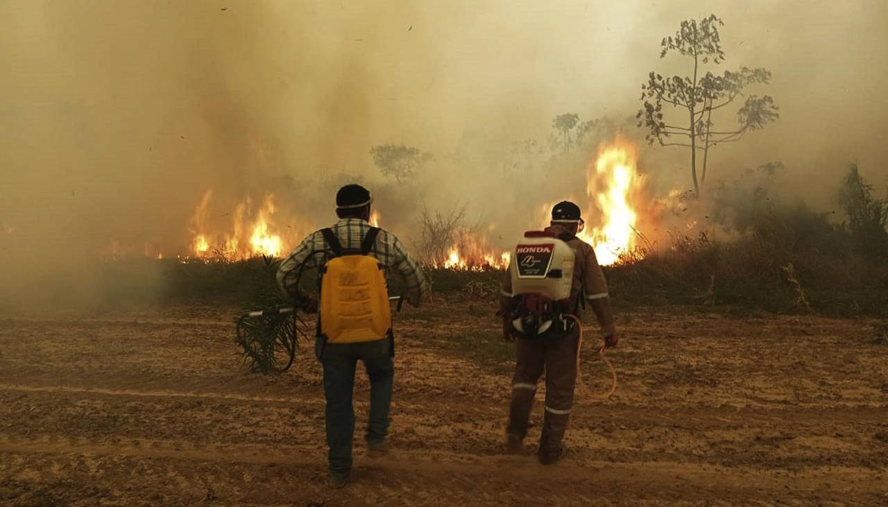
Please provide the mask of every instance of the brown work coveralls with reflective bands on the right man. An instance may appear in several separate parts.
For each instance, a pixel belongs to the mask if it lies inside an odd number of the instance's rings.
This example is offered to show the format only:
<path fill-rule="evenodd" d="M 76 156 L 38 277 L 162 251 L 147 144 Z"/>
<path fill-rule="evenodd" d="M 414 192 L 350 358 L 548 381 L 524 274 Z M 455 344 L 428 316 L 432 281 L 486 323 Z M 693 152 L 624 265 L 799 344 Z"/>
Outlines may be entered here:
<path fill-rule="evenodd" d="M 554 234 L 565 232 L 560 226 L 547 227 L 546 231 Z M 607 281 L 601 273 L 595 250 L 576 237 L 568 240 L 567 244 L 574 250 L 576 256 L 571 301 L 578 302 L 580 295 L 583 294 L 598 318 L 602 336 L 613 335 L 614 316 L 607 295 Z M 510 273 L 507 271 L 503 277 L 503 295 L 500 298 L 500 308 L 506 315 L 511 311 Z M 582 321 L 581 315 L 576 317 Z M 517 364 L 511 382 L 511 407 L 506 432 L 522 440 L 527 436 L 527 420 L 534 404 L 536 382 L 544 372 L 546 400 L 543 434 L 540 436 L 541 455 L 556 456 L 567 430 L 567 420 L 574 403 L 578 337 L 579 330 L 574 328 L 560 337 L 516 339 Z"/>

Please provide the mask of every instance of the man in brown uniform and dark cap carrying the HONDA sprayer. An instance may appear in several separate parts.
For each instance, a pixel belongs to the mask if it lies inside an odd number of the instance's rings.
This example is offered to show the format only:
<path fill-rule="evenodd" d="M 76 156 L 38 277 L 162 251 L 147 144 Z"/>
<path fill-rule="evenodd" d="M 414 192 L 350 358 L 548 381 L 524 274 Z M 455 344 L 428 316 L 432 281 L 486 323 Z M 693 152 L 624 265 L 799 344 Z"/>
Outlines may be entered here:
<path fill-rule="evenodd" d="M 546 232 L 559 236 L 574 250 L 576 262 L 574 280 L 571 285 L 571 302 L 575 316 L 583 299 L 588 302 L 598 318 L 605 345 L 616 345 L 614 316 L 610 299 L 607 296 L 607 281 L 601 273 L 595 250 L 589 243 L 576 237 L 583 224 L 580 208 L 573 202 L 559 202 L 552 209 L 551 226 Z M 500 311 L 503 314 L 503 338 L 515 340 L 516 332 L 511 324 L 511 276 L 503 277 L 503 294 L 500 297 Z M 537 451 L 540 463 L 557 462 L 567 450 L 561 440 L 567 430 L 567 419 L 574 402 L 576 383 L 576 354 L 579 329 L 571 327 L 567 332 L 538 338 L 517 337 L 515 350 L 517 365 L 511 382 L 511 407 L 509 425 L 506 428 L 506 446 L 509 452 L 518 453 L 523 449 L 522 441 L 527 436 L 527 419 L 533 407 L 536 381 L 543 372 L 546 374 L 545 415 L 543 434 Z"/>

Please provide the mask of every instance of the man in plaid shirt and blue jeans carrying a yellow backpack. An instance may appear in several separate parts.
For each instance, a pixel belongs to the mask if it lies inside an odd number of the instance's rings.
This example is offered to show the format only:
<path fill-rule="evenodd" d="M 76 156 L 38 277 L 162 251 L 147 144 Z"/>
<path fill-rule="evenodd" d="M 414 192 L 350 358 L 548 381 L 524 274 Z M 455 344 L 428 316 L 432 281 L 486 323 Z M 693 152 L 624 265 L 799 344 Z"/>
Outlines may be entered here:
<path fill-rule="evenodd" d="M 360 185 L 346 185 L 336 196 L 339 220 L 330 228 L 337 235 L 343 249 L 359 249 L 370 224 L 369 191 Z M 416 261 L 404 250 L 394 234 L 380 230 L 369 255 L 383 265 L 386 279 L 392 270 L 403 279 L 408 303 L 418 306 L 428 293 L 425 275 Z M 294 297 L 303 309 L 313 312 L 317 303 L 299 294 L 299 274 L 324 265 L 330 257 L 329 245 L 321 231 L 310 234 L 281 263 L 277 281 L 281 289 Z M 333 487 L 348 483 L 352 469 L 352 437 L 354 408 L 352 394 L 357 361 L 364 361 L 370 380 L 370 414 L 367 427 L 367 448 L 371 457 L 385 456 L 388 448 L 389 408 L 392 405 L 392 341 L 388 338 L 372 342 L 327 344 L 323 337 L 315 342 L 315 352 L 323 366 L 327 445 L 329 447 L 330 481 Z"/>

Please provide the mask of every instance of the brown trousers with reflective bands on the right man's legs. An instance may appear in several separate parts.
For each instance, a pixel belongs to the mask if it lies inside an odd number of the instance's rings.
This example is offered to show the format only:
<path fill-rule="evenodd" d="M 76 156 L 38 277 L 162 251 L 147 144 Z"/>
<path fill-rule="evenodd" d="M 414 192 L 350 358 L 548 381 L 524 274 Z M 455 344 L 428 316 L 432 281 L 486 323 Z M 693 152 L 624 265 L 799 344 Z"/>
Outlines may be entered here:
<path fill-rule="evenodd" d="M 506 432 L 521 439 L 527 436 L 527 420 L 534 405 L 536 382 L 546 374 L 545 414 L 540 454 L 558 452 L 570 408 L 574 404 L 576 384 L 577 335 L 560 338 L 515 340 L 518 363 L 511 381 L 511 406 Z"/>

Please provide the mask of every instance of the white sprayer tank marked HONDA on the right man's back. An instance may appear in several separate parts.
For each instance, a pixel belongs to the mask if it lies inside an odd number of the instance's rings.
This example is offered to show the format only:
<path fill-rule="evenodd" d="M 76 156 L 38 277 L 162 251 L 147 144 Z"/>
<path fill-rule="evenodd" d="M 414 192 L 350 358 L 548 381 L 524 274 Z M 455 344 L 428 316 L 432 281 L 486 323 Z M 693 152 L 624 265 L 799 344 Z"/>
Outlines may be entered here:
<path fill-rule="evenodd" d="M 574 250 L 554 234 L 530 231 L 511 257 L 511 294 L 539 294 L 552 300 L 570 298 Z"/>

